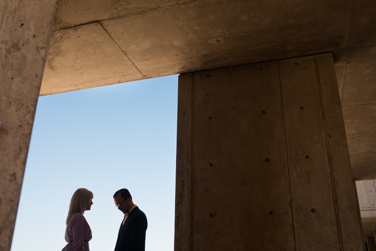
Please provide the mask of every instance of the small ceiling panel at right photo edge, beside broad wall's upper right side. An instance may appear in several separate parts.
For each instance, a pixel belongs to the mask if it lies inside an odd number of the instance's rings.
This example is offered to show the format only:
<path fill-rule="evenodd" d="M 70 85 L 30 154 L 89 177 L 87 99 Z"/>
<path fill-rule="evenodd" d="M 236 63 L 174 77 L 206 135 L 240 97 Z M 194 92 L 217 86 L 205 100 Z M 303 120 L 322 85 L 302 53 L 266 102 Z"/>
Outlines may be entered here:
<path fill-rule="evenodd" d="M 348 63 L 343 106 L 376 103 L 376 60 Z"/>

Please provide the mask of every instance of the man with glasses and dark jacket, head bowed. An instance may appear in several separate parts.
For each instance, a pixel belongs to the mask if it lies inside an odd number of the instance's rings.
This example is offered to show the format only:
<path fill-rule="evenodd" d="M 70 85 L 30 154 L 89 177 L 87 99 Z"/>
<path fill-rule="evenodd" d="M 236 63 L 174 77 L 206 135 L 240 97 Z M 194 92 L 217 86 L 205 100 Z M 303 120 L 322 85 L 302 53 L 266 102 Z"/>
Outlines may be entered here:
<path fill-rule="evenodd" d="M 116 207 L 124 213 L 119 229 L 115 251 L 145 251 L 148 220 L 143 211 L 133 204 L 128 189 L 120 189 L 114 194 Z"/>

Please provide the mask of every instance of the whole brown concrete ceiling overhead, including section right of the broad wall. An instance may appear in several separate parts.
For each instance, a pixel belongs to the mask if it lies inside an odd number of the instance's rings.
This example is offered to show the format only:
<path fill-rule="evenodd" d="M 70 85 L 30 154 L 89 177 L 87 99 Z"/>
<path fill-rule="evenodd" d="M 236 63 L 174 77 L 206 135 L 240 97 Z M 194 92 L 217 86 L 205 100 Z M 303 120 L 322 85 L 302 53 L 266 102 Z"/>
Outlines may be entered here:
<path fill-rule="evenodd" d="M 376 179 L 374 0 L 60 0 L 40 95 L 333 52 L 353 175 Z"/>

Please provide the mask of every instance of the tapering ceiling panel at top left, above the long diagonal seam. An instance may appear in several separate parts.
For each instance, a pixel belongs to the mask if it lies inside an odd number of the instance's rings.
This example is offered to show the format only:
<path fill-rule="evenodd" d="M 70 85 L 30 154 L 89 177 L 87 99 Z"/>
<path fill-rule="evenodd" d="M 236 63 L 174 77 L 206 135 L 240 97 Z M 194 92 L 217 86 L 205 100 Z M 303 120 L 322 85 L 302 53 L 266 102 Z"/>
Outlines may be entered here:
<path fill-rule="evenodd" d="M 53 30 L 190 2 L 187 0 L 60 0 Z"/>

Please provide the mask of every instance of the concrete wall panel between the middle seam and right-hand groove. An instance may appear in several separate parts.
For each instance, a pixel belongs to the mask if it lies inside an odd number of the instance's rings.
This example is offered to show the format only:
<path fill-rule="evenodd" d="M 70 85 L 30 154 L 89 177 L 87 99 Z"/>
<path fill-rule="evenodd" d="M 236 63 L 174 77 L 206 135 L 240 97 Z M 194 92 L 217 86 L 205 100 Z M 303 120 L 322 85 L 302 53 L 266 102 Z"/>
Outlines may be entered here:
<path fill-rule="evenodd" d="M 279 65 L 296 250 L 343 249 L 315 58 L 282 60 Z"/>

